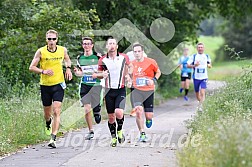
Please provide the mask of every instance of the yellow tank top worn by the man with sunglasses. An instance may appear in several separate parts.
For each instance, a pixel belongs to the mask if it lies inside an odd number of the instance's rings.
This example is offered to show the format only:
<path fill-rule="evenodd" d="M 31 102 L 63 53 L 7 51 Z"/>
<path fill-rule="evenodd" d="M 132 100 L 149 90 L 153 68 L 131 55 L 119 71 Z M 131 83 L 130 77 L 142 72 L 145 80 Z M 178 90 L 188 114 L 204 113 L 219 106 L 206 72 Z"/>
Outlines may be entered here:
<path fill-rule="evenodd" d="M 47 46 L 40 48 L 41 59 L 40 68 L 43 70 L 53 70 L 53 75 L 40 75 L 40 85 L 52 86 L 65 82 L 62 62 L 64 60 L 64 47 L 57 45 L 55 52 L 49 52 Z"/>

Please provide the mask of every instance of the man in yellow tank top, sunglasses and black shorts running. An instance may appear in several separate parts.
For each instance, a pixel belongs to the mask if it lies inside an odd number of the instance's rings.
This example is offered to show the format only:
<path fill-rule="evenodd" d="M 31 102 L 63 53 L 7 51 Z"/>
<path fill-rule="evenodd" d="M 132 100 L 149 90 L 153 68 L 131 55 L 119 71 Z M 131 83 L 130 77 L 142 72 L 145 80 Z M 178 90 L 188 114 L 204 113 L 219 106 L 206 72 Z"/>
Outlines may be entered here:
<path fill-rule="evenodd" d="M 35 53 L 29 70 L 40 74 L 41 99 L 44 106 L 44 118 L 46 120 L 46 134 L 51 134 L 49 147 L 56 148 L 56 135 L 60 123 L 61 103 L 66 88 L 62 62 L 65 61 L 65 78 L 72 79 L 71 60 L 65 47 L 56 45 L 58 33 L 55 30 L 46 32 L 47 45 L 41 47 Z M 38 64 L 40 67 L 38 68 Z M 53 111 L 53 121 L 51 112 Z M 52 125 L 51 125 L 52 124 Z"/>

